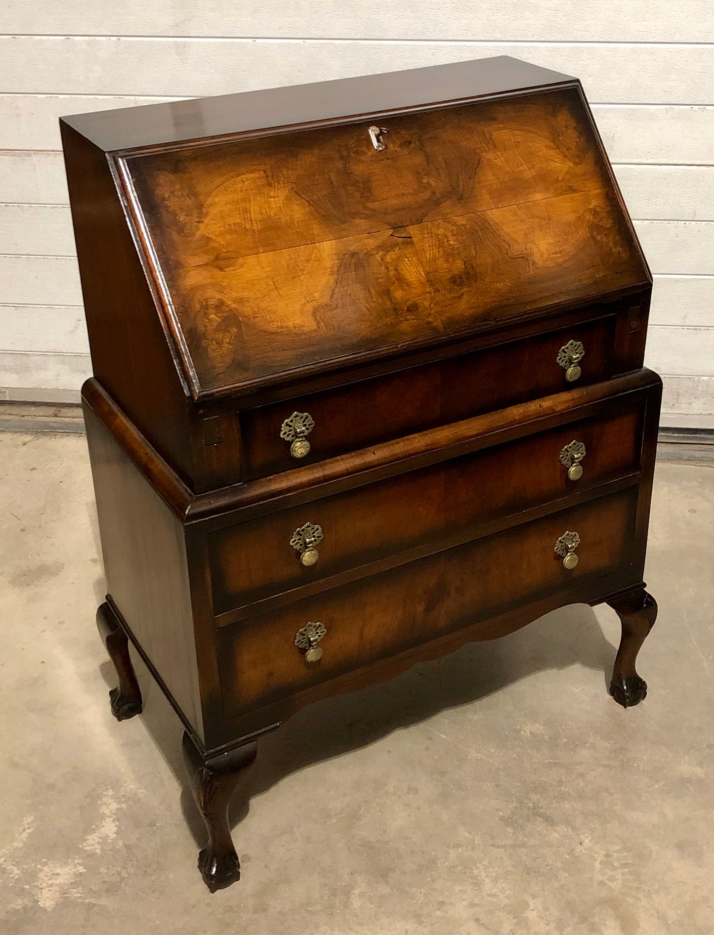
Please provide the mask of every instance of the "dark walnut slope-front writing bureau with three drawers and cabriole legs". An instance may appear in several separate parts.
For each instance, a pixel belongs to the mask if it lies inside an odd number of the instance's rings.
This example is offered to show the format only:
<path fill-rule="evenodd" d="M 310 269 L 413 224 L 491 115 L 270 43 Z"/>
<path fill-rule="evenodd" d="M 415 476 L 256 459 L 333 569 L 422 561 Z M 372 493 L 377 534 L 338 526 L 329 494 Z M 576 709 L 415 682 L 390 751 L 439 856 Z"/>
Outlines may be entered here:
<path fill-rule="evenodd" d="M 141 711 L 128 638 L 212 890 L 258 739 L 317 698 L 576 601 L 645 697 L 651 280 L 577 79 L 494 58 L 62 131 L 111 706 Z"/>

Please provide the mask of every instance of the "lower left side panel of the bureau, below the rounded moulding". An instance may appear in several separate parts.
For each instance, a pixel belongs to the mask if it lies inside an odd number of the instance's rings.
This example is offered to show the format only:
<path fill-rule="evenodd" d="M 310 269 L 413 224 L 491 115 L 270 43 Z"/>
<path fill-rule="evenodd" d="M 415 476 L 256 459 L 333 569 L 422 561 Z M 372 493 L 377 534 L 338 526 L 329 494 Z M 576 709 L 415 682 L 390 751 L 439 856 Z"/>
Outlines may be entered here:
<path fill-rule="evenodd" d="M 88 407 L 107 592 L 179 713 L 203 740 L 184 531 Z"/>

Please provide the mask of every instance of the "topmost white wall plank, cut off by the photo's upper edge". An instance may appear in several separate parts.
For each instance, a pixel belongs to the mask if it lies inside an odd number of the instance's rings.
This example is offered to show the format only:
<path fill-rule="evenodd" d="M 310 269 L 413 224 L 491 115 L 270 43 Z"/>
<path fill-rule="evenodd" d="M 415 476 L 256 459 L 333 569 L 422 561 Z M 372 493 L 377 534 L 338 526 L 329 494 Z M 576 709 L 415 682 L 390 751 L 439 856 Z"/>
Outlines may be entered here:
<path fill-rule="evenodd" d="M 577 6 L 577 10 L 574 8 Z M 577 11 L 577 15 L 574 13 Z M 678 0 L 676 14 L 669 4 L 651 0 L 600 0 L 599 3 L 557 2 L 524 4 L 521 0 L 426 0 L 414 7 L 408 0 L 263 0 L 242 4 L 235 0 L 154 0 L 150 4 L 87 4 L 65 0 L 42 9 L 25 0 L 3 5 L 7 33 L 44 32 L 53 36 L 243 36 L 260 38 L 344 39 L 481 39 L 701 42 L 714 32 L 708 0 Z"/>

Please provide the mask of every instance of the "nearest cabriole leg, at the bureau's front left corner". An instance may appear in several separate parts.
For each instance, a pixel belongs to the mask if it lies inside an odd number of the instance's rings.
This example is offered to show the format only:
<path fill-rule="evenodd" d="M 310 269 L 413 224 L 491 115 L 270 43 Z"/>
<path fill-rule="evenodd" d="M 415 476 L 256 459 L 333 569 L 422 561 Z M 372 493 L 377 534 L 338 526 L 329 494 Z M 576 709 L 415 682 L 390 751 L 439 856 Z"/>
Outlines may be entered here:
<path fill-rule="evenodd" d="M 198 869 L 211 893 L 240 880 L 240 863 L 228 825 L 228 803 L 257 752 L 258 744 L 253 741 L 205 760 L 189 735 L 183 735 L 183 758 L 193 798 L 208 829 L 208 844 L 198 855 Z"/>

